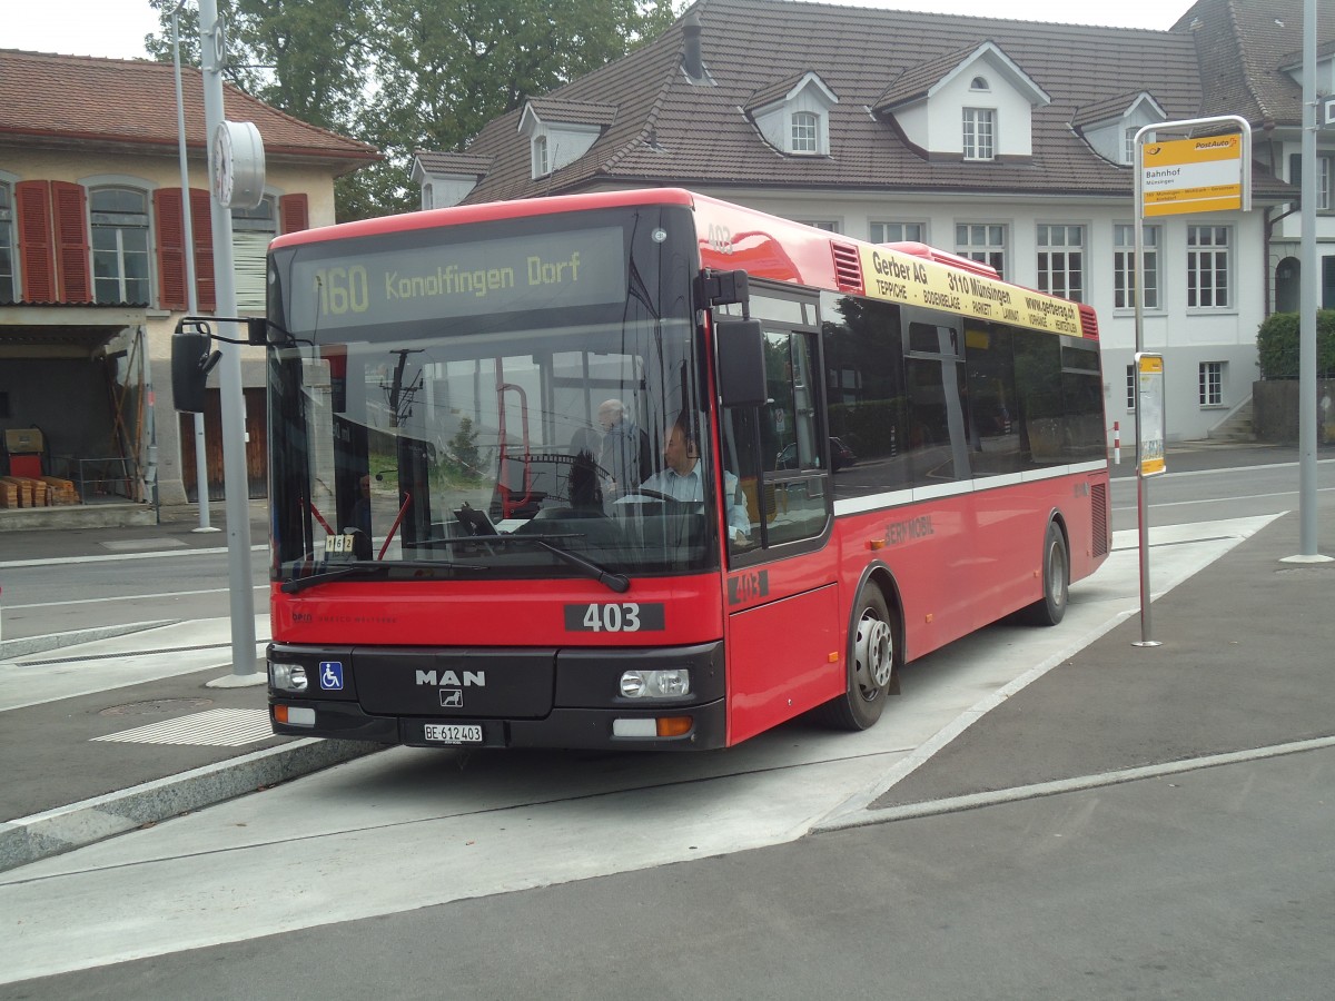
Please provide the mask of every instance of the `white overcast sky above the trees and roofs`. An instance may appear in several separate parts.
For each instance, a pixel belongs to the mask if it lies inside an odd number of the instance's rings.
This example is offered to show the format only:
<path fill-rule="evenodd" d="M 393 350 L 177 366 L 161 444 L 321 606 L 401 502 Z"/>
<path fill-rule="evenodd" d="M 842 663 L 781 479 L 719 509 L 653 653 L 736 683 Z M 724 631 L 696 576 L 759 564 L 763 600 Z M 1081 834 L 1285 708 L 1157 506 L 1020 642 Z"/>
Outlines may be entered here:
<path fill-rule="evenodd" d="M 1023 21 L 1105 24 L 1167 29 L 1191 0 L 1121 0 L 1075 4 L 1071 0 L 841 0 L 853 7 L 939 11 L 1004 16 Z M 5 4 L 8 5 L 8 4 Z M 144 35 L 158 28 L 148 0 L 29 0 L 15 4 L 0 20 L 0 48 L 60 52 L 76 56 L 134 59 L 144 55 Z"/>

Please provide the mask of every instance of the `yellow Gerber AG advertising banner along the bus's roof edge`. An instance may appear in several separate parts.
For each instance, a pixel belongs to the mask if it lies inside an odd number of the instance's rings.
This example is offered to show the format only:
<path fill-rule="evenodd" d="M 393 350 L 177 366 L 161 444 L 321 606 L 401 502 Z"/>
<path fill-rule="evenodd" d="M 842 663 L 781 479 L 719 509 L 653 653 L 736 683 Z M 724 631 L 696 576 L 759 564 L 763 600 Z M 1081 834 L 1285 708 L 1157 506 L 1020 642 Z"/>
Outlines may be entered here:
<path fill-rule="evenodd" d="M 885 247 L 861 247 L 866 294 L 997 323 L 1080 336 L 1076 303 Z"/>

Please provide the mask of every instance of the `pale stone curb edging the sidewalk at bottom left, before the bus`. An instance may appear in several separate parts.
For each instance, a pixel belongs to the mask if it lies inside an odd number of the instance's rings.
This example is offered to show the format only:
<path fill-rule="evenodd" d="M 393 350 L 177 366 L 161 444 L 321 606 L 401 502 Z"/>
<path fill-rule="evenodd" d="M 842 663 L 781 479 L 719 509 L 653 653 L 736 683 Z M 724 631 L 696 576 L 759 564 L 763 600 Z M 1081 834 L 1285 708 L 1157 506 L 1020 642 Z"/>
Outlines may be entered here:
<path fill-rule="evenodd" d="M 383 750 L 306 738 L 0 823 L 0 872 Z"/>

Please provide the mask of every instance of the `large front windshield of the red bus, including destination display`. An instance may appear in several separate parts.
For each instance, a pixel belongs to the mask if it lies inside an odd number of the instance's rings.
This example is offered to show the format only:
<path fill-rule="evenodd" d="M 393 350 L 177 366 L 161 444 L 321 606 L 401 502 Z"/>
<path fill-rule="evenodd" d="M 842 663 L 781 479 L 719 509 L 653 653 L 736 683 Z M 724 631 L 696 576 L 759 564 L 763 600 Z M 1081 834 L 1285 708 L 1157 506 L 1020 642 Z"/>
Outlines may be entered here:
<path fill-rule="evenodd" d="M 694 502 L 645 484 L 704 420 L 690 218 L 565 219 L 272 252 L 275 579 L 717 567 L 704 448 Z"/>

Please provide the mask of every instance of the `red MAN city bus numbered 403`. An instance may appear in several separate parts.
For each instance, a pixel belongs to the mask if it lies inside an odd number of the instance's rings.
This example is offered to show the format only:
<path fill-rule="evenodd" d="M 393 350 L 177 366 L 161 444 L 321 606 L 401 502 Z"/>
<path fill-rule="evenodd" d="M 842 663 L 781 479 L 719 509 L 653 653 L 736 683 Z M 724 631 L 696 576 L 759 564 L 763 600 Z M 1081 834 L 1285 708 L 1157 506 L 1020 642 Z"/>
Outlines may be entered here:
<path fill-rule="evenodd" d="M 1108 554 L 1097 324 L 680 190 L 268 259 L 274 730 L 486 747 L 865 729 Z"/>

